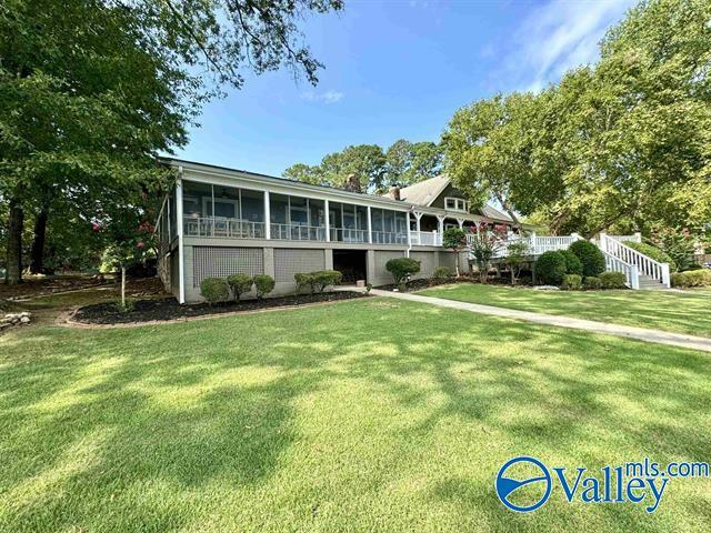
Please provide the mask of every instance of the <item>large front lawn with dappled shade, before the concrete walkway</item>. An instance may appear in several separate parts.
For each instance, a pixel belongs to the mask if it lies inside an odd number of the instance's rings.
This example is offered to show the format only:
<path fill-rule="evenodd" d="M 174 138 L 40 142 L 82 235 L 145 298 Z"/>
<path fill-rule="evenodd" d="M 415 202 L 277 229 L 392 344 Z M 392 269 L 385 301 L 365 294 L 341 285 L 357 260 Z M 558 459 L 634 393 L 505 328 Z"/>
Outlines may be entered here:
<path fill-rule="evenodd" d="M 709 354 L 369 299 L 0 336 L 0 531 L 708 531 L 711 480 L 519 515 L 498 469 L 711 459 Z"/>

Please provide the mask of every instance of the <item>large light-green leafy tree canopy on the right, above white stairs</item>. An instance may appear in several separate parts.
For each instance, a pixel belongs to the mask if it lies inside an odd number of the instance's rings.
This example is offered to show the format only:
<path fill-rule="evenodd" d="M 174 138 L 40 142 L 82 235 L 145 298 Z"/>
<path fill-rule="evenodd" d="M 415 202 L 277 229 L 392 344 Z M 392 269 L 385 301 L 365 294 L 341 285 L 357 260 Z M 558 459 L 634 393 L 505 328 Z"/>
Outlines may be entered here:
<path fill-rule="evenodd" d="M 544 218 L 554 232 L 711 220 L 711 4 L 651 0 L 600 46 L 600 61 L 538 94 L 460 109 L 447 171 L 472 195 Z"/>

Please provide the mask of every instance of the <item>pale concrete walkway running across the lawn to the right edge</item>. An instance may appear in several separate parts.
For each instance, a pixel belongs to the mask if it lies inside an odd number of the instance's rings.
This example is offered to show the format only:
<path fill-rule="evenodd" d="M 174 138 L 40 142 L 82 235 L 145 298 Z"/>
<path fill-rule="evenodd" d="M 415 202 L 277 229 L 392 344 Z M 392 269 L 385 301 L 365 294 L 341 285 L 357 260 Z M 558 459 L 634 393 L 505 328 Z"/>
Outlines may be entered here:
<path fill-rule="evenodd" d="M 685 335 L 683 333 L 670 333 L 668 331 L 647 330 L 644 328 L 633 328 L 630 325 L 610 324 L 607 322 L 595 322 L 594 320 L 573 319 L 570 316 L 559 316 L 553 314 L 533 313 L 531 311 L 519 311 L 515 309 L 495 308 L 493 305 L 482 305 L 480 303 L 457 302 L 443 298 L 421 296 L 403 292 L 381 291 L 373 289 L 371 294 L 377 296 L 395 298 L 410 302 L 429 303 L 440 308 L 458 309 L 471 313 L 491 314 L 504 319 L 524 320 L 537 324 L 555 325 L 559 328 L 570 328 L 573 330 L 590 331 L 593 333 L 604 333 L 608 335 L 627 336 L 647 342 L 669 344 L 671 346 L 689 348 L 711 352 L 711 339 L 702 336 Z"/>

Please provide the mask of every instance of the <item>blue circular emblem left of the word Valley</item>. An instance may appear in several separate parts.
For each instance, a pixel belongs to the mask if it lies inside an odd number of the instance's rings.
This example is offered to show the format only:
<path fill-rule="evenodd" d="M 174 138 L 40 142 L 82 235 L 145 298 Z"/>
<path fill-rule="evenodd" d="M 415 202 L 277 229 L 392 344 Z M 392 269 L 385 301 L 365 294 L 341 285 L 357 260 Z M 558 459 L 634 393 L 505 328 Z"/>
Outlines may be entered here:
<path fill-rule="evenodd" d="M 528 513 L 548 501 L 551 474 L 538 459 L 513 457 L 499 470 L 494 486 L 501 503 L 511 511 Z"/>

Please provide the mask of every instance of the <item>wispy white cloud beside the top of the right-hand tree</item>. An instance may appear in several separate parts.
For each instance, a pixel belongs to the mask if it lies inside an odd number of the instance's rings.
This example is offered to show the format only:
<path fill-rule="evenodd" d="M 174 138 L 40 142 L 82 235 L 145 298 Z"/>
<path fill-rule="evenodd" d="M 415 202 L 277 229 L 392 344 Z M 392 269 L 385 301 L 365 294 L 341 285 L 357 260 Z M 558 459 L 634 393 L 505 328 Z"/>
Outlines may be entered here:
<path fill-rule="evenodd" d="M 567 70 L 592 63 L 599 42 L 637 0 L 551 0 L 531 12 L 512 37 L 497 78 L 538 91 Z M 509 88 L 500 88 L 502 90 Z"/>

